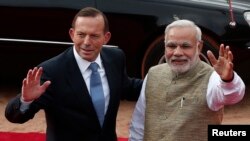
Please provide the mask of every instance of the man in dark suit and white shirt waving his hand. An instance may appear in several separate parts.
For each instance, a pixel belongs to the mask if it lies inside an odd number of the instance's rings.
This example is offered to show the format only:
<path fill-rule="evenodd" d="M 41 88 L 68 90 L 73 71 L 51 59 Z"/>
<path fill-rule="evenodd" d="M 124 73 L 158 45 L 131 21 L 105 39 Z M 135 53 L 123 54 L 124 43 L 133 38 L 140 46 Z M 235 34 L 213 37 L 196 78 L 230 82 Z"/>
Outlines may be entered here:
<path fill-rule="evenodd" d="M 80 10 L 69 34 L 74 46 L 28 71 L 21 94 L 9 101 L 5 116 L 10 122 L 24 123 L 43 109 L 47 141 L 116 141 L 120 99 L 137 100 L 142 80 L 127 76 L 120 49 L 103 47 L 111 33 L 101 11 Z M 93 62 L 103 83 L 103 123 L 90 95 Z"/>

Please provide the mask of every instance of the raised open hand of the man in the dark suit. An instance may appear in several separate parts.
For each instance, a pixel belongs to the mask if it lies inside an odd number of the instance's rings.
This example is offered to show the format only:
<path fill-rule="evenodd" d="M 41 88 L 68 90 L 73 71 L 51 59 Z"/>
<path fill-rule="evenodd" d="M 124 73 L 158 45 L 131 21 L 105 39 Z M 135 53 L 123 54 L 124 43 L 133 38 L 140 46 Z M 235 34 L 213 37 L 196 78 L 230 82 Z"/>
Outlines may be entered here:
<path fill-rule="evenodd" d="M 26 78 L 23 80 L 22 85 L 22 99 L 26 102 L 32 101 L 40 97 L 50 85 L 50 81 L 44 82 L 40 85 L 40 78 L 43 72 L 43 68 L 39 69 L 35 67 L 30 69 Z"/>

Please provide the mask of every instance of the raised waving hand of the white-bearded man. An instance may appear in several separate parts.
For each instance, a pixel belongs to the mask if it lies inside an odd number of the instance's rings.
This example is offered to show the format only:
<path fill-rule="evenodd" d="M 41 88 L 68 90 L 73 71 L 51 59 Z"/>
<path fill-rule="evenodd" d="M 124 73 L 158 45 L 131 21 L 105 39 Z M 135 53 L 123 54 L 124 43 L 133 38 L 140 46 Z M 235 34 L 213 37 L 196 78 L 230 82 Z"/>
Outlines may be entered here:
<path fill-rule="evenodd" d="M 215 58 L 211 51 L 207 52 L 207 56 L 214 70 L 220 75 L 223 81 L 230 81 L 233 79 L 233 54 L 229 46 L 224 47 L 224 44 L 220 45 L 218 59 Z"/>

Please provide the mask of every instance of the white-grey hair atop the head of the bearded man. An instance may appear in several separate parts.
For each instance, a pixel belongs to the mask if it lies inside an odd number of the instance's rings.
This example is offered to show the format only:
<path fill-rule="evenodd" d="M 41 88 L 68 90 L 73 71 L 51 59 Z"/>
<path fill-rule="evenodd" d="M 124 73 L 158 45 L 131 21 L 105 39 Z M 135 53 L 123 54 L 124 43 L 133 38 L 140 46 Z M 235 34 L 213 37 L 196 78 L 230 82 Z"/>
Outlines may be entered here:
<path fill-rule="evenodd" d="M 174 27 L 193 27 L 196 30 L 196 39 L 198 41 L 201 41 L 201 36 L 202 36 L 201 29 L 194 22 L 185 19 L 176 20 L 166 27 L 165 35 L 167 35 L 169 30 Z"/>

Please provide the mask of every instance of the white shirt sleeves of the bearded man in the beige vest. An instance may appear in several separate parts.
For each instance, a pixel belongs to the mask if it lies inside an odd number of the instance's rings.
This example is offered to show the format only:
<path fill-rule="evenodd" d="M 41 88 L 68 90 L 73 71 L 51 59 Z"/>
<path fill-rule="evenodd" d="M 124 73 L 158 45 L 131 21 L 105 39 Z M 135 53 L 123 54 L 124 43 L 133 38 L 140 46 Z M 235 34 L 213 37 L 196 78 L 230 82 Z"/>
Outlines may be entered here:
<path fill-rule="evenodd" d="M 129 129 L 129 141 L 142 141 L 144 136 L 145 121 L 145 86 L 147 76 L 144 79 L 140 97 L 136 103 L 134 113 L 132 115 L 131 125 Z M 207 88 L 207 104 L 213 111 L 218 111 L 224 105 L 230 105 L 239 102 L 245 94 L 245 84 L 242 79 L 234 72 L 232 82 L 223 82 L 220 76 L 214 71 L 208 82 Z"/>

